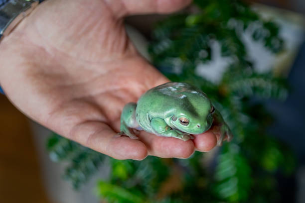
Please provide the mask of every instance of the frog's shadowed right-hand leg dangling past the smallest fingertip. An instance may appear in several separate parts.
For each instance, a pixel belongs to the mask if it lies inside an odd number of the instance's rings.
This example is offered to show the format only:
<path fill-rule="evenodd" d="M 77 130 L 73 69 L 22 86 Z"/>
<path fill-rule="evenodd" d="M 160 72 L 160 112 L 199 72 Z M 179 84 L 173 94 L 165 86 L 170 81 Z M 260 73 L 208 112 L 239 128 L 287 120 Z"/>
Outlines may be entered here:
<path fill-rule="evenodd" d="M 215 122 L 213 124 L 220 127 L 220 129 L 218 128 L 220 131 L 220 137 L 217 140 L 217 145 L 221 146 L 222 142 L 226 136 L 227 136 L 228 142 L 230 142 L 233 139 L 233 134 L 232 134 L 228 124 L 224 121 L 224 119 L 222 118 L 222 115 L 220 114 L 220 112 L 217 109 L 215 109 L 215 112 L 213 113 L 213 118 L 214 118 L 214 122 Z"/>

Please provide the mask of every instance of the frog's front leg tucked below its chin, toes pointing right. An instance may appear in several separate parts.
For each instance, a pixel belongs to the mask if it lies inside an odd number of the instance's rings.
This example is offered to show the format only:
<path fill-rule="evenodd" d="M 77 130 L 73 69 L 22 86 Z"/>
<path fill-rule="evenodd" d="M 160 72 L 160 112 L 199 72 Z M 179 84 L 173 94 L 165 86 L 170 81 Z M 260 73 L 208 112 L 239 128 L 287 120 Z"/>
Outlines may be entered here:
<path fill-rule="evenodd" d="M 162 118 L 152 118 L 151 126 L 157 134 L 164 137 L 175 137 L 183 141 L 187 141 L 192 138 L 192 136 L 188 133 L 183 133 L 178 130 L 171 129 Z"/>

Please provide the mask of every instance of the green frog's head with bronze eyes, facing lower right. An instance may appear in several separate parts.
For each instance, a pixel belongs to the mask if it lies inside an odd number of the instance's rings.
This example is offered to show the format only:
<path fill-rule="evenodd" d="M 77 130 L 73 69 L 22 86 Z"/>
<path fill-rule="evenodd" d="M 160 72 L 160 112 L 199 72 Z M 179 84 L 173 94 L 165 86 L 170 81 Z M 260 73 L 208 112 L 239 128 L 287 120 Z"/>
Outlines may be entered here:
<path fill-rule="evenodd" d="M 189 112 L 180 112 L 178 115 L 171 116 L 171 124 L 176 129 L 189 134 L 201 134 L 210 129 L 213 123 L 214 106 L 211 104 L 204 106 L 199 114 L 194 115 Z"/>

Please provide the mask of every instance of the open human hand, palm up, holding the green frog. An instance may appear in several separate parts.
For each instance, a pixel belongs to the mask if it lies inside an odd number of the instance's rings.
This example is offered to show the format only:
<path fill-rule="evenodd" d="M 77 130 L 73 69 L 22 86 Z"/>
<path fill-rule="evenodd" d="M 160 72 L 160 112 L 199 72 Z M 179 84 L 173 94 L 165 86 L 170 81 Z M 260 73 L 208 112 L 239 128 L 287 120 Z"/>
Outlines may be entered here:
<path fill-rule="evenodd" d="M 123 106 L 168 82 L 139 56 L 123 17 L 171 12 L 190 0 L 47 0 L 0 43 L 0 85 L 24 114 L 116 159 L 189 157 L 213 132 L 186 142 L 141 132 L 116 137 Z"/>

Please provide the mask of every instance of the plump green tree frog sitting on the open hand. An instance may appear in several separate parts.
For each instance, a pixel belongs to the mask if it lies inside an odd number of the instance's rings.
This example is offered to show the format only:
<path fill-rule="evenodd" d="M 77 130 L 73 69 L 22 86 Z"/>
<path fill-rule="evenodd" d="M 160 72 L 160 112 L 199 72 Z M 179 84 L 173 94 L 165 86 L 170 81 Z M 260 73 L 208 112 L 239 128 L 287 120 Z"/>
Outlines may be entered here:
<path fill-rule="evenodd" d="M 187 83 L 169 82 L 143 94 L 137 103 L 127 103 L 121 114 L 120 135 L 138 139 L 138 130 L 158 136 L 193 139 L 212 124 L 220 128 L 218 145 L 232 139 L 232 133 L 220 112 L 205 93 Z"/>

